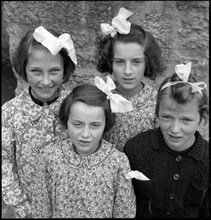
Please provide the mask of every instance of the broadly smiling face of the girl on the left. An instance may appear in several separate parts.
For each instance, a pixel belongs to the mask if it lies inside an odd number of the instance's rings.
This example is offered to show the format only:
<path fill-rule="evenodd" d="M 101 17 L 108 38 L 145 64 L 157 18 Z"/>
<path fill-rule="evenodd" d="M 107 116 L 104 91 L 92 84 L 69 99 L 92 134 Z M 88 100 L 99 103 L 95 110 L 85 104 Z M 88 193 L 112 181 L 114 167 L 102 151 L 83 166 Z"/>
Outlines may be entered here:
<path fill-rule="evenodd" d="M 33 95 L 40 101 L 46 102 L 54 99 L 63 82 L 64 62 L 58 53 L 32 49 L 27 65 L 26 75 Z"/>

